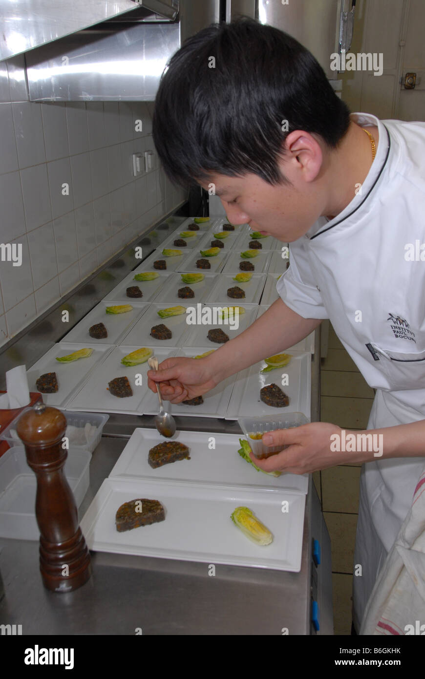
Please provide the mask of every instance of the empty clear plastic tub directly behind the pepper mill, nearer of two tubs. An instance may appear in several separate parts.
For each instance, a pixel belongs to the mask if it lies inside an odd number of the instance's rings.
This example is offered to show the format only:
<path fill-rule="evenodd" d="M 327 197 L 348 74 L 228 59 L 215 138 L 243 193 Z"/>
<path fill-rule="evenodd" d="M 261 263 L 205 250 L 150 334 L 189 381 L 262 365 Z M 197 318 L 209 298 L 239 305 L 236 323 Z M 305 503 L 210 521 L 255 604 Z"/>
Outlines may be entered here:
<path fill-rule="evenodd" d="M 77 507 L 90 483 L 88 450 L 69 448 L 64 473 Z M 0 458 L 0 536 L 18 540 L 38 540 L 35 519 L 37 479 L 26 462 L 23 445 L 11 447 Z"/>

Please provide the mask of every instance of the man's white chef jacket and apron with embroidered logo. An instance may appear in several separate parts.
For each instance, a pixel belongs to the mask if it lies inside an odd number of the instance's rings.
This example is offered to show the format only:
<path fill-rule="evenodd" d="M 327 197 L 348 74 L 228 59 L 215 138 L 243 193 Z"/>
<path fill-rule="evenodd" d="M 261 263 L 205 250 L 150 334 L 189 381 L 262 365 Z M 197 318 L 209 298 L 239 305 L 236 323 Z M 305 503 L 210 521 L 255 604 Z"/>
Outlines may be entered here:
<path fill-rule="evenodd" d="M 320 217 L 289 244 L 291 266 L 277 290 L 303 318 L 331 320 L 377 390 L 368 428 L 380 428 L 425 419 L 425 123 L 351 117 L 377 126 L 375 160 L 361 192 L 339 215 Z M 423 458 L 370 455 L 354 554 L 363 571 L 353 579 L 357 628 L 424 465 Z"/>

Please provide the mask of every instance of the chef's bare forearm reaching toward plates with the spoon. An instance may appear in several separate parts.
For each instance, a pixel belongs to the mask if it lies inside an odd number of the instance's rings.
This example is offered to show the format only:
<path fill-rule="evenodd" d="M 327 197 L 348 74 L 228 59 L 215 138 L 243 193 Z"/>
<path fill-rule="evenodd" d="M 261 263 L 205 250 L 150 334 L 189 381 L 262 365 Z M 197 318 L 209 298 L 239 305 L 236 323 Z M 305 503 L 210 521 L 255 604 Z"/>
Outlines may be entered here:
<path fill-rule="evenodd" d="M 320 323 L 320 318 L 302 318 L 284 304 L 282 299 L 277 299 L 243 333 L 211 354 L 208 357 L 210 365 L 221 381 L 261 361 L 265 356 L 273 356 L 297 344 Z"/>

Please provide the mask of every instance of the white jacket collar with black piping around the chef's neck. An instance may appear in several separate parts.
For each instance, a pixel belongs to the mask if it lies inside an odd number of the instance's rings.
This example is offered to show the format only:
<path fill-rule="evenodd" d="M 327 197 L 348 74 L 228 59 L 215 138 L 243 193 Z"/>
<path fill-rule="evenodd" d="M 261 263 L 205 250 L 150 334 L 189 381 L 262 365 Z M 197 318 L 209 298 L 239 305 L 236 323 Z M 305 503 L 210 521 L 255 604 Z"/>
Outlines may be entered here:
<path fill-rule="evenodd" d="M 375 115 L 371 115 L 371 113 L 351 113 L 350 118 L 353 120 L 353 122 L 356 122 L 362 127 L 376 126 L 378 128 L 380 139 L 377 145 L 377 153 L 373 163 L 371 164 L 371 168 L 367 173 L 367 177 L 362 184 L 361 194 L 358 193 L 356 196 L 354 196 L 353 200 L 348 203 L 346 208 L 344 208 L 344 210 L 342 210 L 342 212 L 336 215 L 333 219 L 319 217 L 312 228 L 306 233 L 305 238 L 309 238 L 310 240 L 317 238 L 317 236 L 321 236 L 321 234 L 329 231 L 332 227 L 348 219 L 348 217 L 354 215 L 354 213 L 356 213 L 357 210 L 363 206 L 363 204 L 369 198 L 371 191 L 373 191 L 375 188 L 375 185 L 382 175 L 388 160 L 391 142 L 390 133 L 388 132 L 388 129 L 384 123 L 382 123 Z M 356 217 L 357 216 L 360 215 L 356 215 Z"/>

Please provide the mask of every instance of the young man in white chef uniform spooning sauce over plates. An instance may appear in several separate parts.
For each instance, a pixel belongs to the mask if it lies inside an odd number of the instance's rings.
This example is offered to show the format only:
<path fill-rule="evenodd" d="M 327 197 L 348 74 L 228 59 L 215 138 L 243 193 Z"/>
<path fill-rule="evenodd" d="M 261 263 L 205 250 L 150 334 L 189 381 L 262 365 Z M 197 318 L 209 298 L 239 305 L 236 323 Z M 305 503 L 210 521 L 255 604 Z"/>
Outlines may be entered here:
<path fill-rule="evenodd" d="M 425 123 L 350 115 L 310 52 L 242 20 L 210 26 L 174 54 L 153 136 L 168 177 L 213 185 L 232 223 L 291 243 L 291 265 L 280 298 L 251 327 L 204 359 L 163 361 L 149 387 L 162 382 L 171 403 L 199 396 L 330 318 L 376 389 L 368 429 L 383 436 L 379 451 L 337 452 L 341 429 L 316 422 L 268 434 L 266 443 L 292 445 L 256 461 L 295 474 L 366 463 L 358 631 L 424 464 Z"/>

